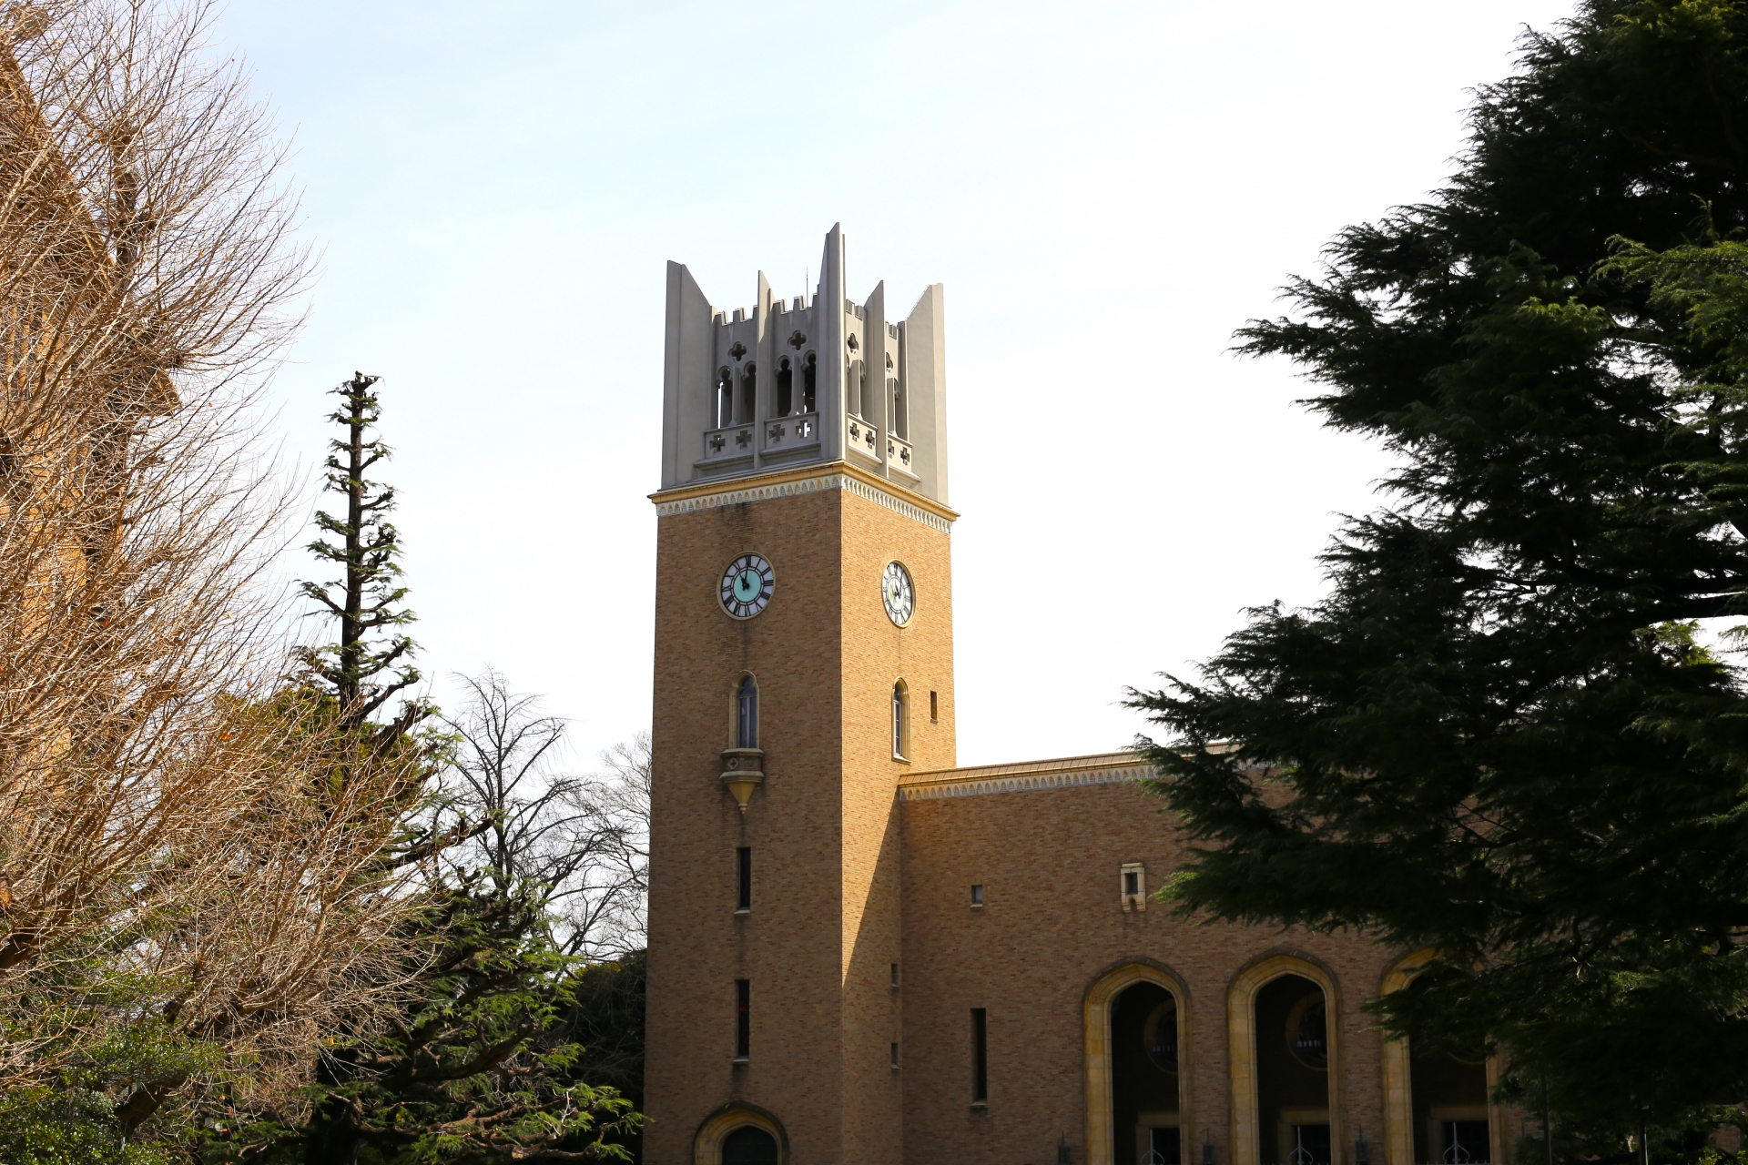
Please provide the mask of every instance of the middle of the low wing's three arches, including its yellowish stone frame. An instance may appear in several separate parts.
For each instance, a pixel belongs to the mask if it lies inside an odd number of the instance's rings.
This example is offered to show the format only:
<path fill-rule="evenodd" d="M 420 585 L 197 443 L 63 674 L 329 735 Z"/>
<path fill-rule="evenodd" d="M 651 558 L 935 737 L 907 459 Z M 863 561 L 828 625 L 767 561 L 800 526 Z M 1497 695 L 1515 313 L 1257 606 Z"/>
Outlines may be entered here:
<path fill-rule="evenodd" d="M 1330 1165 L 1341 1160 L 1341 997 L 1308 957 L 1259 959 L 1232 980 L 1234 1165 Z"/>

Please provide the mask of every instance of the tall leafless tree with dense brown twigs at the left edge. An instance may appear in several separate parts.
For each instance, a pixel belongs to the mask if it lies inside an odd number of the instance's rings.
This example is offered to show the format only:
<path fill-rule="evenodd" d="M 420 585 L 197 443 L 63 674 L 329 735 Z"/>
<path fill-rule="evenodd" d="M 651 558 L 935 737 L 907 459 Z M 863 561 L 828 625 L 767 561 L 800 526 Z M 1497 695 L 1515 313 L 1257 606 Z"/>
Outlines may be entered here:
<path fill-rule="evenodd" d="M 273 695 L 252 393 L 308 259 L 205 28 L 0 7 L 0 1090 L 147 1025 L 283 1095 L 393 964 L 423 760 Z M 138 1071 L 124 1125 L 196 1069 Z"/>

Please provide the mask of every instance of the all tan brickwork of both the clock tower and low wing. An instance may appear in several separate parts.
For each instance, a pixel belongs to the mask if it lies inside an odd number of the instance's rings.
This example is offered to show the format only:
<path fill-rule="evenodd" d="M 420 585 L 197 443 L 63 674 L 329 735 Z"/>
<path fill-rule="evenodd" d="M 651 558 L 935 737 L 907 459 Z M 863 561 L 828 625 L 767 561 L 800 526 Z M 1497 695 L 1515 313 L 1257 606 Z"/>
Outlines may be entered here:
<path fill-rule="evenodd" d="M 659 520 L 647 1160 L 692 1160 L 729 1102 L 774 1114 L 792 1165 L 1051 1165 L 1066 1134 L 1086 1162 L 1082 1003 L 1112 966 L 1152 959 L 1187 985 L 1185 1165 L 1211 1137 L 1231 1165 L 1227 990 L 1246 964 L 1297 950 L 1339 994 L 1342 1146 L 1383 1165 L 1379 1037 L 1358 1004 L 1390 961 L 1356 936 L 1194 927 L 1119 906 L 1122 863 L 1148 887 L 1176 863 L 1169 819 L 1133 786 L 898 803 L 905 772 L 949 769 L 953 610 L 944 533 L 827 489 Z M 717 604 L 748 550 L 776 569 L 769 610 Z M 897 629 L 879 576 L 900 559 L 916 615 Z M 732 686 L 760 686 L 766 782 L 748 812 L 718 784 Z M 895 679 L 911 688 L 911 756 L 890 749 Z M 939 721 L 928 693 L 939 693 Z M 753 847 L 753 910 L 734 913 L 734 849 Z M 986 905 L 970 908 L 970 886 Z M 888 985 L 898 962 L 902 987 Z M 752 980 L 752 1058 L 736 1067 L 734 980 Z M 970 1107 L 970 1008 L 989 1013 L 989 1104 Z M 902 1044 L 902 1069 L 888 1065 Z M 1517 1123 L 1507 1130 L 1507 1146 Z"/>

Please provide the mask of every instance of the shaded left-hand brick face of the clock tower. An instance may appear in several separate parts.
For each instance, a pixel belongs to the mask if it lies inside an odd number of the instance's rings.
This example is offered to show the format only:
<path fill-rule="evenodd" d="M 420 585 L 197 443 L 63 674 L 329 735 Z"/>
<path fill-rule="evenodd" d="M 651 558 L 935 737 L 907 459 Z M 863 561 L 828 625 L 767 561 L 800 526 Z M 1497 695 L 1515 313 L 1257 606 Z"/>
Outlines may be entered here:
<path fill-rule="evenodd" d="M 690 1162 L 699 1123 L 731 1100 L 781 1114 L 802 1160 L 836 1158 L 839 1055 L 837 494 L 664 517 L 657 534 L 647 1158 Z M 776 571 L 753 620 L 717 603 L 748 550 Z M 732 686 L 759 679 L 766 781 L 743 816 L 718 776 Z M 753 847 L 753 910 L 734 913 L 734 851 Z M 787 893 L 780 887 L 787 887 Z M 752 1060 L 734 1057 L 734 980 L 752 980 Z M 781 1001 L 781 1006 L 778 1006 Z M 774 1055 L 776 1050 L 781 1055 Z"/>

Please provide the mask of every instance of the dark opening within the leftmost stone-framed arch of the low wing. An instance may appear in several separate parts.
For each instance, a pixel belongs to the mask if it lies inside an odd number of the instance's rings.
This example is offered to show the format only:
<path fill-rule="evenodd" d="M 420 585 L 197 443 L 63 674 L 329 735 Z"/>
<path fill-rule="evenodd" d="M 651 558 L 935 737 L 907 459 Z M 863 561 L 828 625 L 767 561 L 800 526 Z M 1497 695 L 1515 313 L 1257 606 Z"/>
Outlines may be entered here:
<path fill-rule="evenodd" d="M 1126 987 L 1110 1010 L 1112 1149 L 1117 1165 L 1183 1165 L 1178 1127 L 1178 1001 Z"/>

